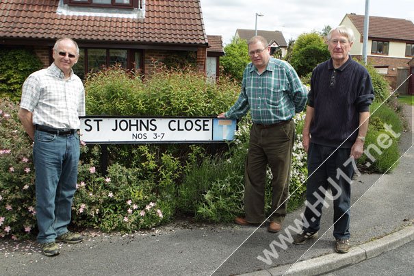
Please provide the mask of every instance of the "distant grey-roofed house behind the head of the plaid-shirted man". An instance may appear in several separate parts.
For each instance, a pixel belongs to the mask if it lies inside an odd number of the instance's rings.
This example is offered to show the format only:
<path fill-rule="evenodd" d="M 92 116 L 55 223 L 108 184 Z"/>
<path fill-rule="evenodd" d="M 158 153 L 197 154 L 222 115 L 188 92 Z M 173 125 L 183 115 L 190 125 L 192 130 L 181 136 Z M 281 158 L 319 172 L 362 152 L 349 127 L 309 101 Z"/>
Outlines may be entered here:
<path fill-rule="evenodd" d="M 272 55 L 275 51 L 281 51 L 281 56 L 286 55 L 287 43 L 282 32 L 279 31 L 263 31 L 261 29 L 257 30 L 258 36 L 263 36 L 268 40 L 268 45 L 270 46 L 270 54 Z M 235 38 L 241 38 L 244 40 L 249 40 L 255 36 L 254 29 L 236 29 Z"/>

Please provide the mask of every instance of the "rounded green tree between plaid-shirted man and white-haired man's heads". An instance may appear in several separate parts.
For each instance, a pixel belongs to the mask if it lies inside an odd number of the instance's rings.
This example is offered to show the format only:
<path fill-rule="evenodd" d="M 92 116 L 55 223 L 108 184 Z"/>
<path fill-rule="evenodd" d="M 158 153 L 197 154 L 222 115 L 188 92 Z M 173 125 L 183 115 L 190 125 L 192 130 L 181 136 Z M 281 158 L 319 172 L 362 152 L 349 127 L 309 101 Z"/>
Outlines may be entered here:
<path fill-rule="evenodd" d="M 320 62 L 324 62 L 330 57 L 328 45 L 324 39 L 317 32 L 312 32 L 298 36 L 289 62 L 302 77 L 313 71 L 313 68 Z"/>

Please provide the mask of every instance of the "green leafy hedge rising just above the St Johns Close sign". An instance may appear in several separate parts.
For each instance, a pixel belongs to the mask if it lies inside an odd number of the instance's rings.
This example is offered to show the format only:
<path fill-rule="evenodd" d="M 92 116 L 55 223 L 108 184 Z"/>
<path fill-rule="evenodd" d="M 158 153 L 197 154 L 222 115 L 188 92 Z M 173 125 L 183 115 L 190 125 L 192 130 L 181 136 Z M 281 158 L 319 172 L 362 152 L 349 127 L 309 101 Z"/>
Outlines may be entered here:
<path fill-rule="evenodd" d="M 87 114 L 134 116 L 216 115 L 240 92 L 229 79 L 213 84 L 190 70 L 161 67 L 142 81 L 118 66 L 89 75 L 85 90 Z"/>

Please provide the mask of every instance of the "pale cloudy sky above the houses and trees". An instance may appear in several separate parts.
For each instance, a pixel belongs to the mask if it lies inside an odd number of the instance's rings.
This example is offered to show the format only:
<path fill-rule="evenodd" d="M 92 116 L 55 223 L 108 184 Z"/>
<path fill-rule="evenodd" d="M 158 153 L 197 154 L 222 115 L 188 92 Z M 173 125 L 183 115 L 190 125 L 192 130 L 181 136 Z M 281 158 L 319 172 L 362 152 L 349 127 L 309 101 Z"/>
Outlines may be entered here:
<path fill-rule="evenodd" d="M 236 29 L 281 31 L 286 42 L 300 34 L 336 27 L 345 14 L 403 18 L 414 22 L 413 0 L 200 0 L 205 31 L 221 35 L 224 45 L 231 42 Z"/>

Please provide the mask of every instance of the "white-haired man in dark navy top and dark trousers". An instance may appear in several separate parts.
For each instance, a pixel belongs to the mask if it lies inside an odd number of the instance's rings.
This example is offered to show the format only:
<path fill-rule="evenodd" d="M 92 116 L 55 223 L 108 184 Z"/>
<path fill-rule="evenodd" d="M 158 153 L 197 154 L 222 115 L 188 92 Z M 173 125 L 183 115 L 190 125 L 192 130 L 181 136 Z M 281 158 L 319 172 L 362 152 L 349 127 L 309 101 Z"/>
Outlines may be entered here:
<path fill-rule="evenodd" d="M 311 91 L 303 128 L 308 153 L 307 207 L 302 233 L 294 244 L 318 237 L 325 192 L 331 188 L 335 223 L 335 251 L 346 253 L 350 238 L 350 182 L 354 159 L 361 157 L 374 89 L 367 70 L 349 55 L 352 29 L 339 26 L 328 34 L 331 59 L 319 64 L 311 77 Z"/>

